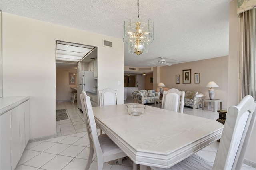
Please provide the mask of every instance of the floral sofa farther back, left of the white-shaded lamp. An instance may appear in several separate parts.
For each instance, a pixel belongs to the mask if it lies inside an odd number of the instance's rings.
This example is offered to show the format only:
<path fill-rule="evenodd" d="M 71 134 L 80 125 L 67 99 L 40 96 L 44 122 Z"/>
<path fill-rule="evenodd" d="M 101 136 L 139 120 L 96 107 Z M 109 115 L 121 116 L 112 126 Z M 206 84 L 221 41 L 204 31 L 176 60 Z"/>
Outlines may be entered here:
<path fill-rule="evenodd" d="M 133 95 L 133 103 L 154 103 L 155 99 L 159 99 L 160 92 L 156 92 L 155 90 L 139 90 L 134 91 Z"/>

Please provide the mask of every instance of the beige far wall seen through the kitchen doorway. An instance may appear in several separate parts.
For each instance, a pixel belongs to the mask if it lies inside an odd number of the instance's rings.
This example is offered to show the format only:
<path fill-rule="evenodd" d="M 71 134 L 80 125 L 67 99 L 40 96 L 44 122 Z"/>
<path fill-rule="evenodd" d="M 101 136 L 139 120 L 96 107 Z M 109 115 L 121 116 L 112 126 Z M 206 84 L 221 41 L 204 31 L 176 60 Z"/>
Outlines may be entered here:
<path fill-rule="evenodd" d="M 56 69 L 56 101 L 70 101 L 71 88 L 77 87 L 77 69 Z M 69 73 L 76 73 L 76 84 L 69 84 Z"/>

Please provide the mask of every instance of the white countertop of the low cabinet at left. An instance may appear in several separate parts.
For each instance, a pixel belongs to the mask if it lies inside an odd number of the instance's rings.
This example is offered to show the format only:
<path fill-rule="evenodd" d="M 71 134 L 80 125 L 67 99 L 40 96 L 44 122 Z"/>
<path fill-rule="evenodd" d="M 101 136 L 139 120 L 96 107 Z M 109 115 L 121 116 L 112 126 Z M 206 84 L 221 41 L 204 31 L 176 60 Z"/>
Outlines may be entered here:
<path fill-rule="evenodd" d="M 18 96 L 18 97 L 1 97 L 0 98 L 0 115 L 13 109 L 14 107 L 24 103 L 29 99 L 29 96 Z"/>

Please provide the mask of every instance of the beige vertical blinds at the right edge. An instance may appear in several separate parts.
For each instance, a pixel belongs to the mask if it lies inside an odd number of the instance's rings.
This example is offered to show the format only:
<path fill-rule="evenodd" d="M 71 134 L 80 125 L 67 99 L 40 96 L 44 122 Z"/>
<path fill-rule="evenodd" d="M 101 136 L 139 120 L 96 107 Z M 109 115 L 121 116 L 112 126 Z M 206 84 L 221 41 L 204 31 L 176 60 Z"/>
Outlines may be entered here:
<path fill-rule="evenodd" d="M 256 8 L 243 12 L 242 97 L 256 100 Z"/>

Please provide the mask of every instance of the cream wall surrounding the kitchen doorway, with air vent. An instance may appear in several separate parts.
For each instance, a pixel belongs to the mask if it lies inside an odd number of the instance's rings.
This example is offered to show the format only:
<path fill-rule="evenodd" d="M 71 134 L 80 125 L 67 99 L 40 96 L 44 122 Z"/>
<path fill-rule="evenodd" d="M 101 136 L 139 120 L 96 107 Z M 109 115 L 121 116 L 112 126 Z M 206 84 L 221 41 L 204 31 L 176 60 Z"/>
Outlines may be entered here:
<path fill-rule="evenodd" d="M 117 89 L 118 103 L 124 102 L 122 39 L 8 13 L 2 16 L 3 97 L 30 96 L 30 139 L 56 134 L 56 40 L 98 47 L 98 89 Z M 113 47 L 103 47 L 103 40 Z"/>

